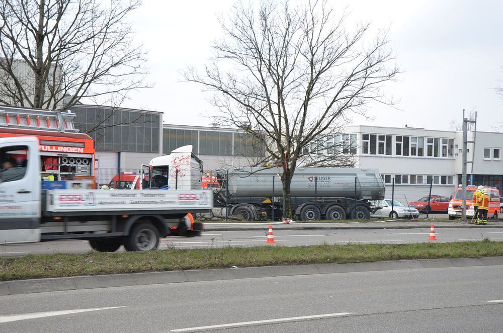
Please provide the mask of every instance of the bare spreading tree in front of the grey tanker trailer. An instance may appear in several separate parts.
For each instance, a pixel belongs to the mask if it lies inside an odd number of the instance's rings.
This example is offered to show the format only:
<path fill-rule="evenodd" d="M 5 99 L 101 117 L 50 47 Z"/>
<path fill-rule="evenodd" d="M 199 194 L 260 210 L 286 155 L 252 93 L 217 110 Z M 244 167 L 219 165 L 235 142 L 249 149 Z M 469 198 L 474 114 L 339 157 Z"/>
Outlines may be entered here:
<path fill-rule="evenodd" d="M 285 217 L 297 165 L 348 165 L 338 144 L 326 149 L 323 138 L 337 134 L 349 113 L 365 114 L 368 102 L 393 103 L 380 90 L 398 73 L 386 32 L 369 41 L 370 25 L 349 31 L 347 18 L 326 2 L 294 9 L 265 2 L 257 10 L 238 3 L 221 20 L 224 37 L 204 73 L 183 73 L 215 92 L 219 123 L 261 143 L 264 168 L 283 168 Z"/>

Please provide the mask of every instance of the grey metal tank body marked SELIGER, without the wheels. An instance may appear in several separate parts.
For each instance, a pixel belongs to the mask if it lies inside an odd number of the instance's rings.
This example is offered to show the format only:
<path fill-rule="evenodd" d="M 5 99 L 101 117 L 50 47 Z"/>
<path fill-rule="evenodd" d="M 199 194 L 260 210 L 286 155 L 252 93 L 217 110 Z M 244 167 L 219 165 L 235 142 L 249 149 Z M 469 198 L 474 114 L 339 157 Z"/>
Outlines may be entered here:
<path fill-rule="evenodd" d="M 229 170 L 229 194 L 232 197 L 282 196 L 280 168 L 267 170 L 244 168 Z M 291 183 L 291 197 L 350 197 L 384 199 L 384 183 L 378 169 L 358 168 L 297 168 Z M 315 194 L 316 187 L 316 194 Z"/>

